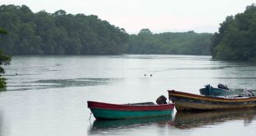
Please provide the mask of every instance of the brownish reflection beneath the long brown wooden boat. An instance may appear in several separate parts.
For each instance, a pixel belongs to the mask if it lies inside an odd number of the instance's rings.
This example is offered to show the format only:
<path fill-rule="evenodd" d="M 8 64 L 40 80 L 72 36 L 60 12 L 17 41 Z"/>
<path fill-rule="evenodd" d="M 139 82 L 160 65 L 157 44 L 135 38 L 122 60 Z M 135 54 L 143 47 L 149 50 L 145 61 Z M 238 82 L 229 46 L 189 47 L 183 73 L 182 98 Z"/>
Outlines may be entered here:
<path fill-rule="evenodd" d="M 174 126 L 178 129 L 201 128 L 204 125 L 220 124 L 230 120 L 244 120 L 249 125 L 256 116 L 256 110 L 225 110 L 206 112 L 177 112 Z"/>

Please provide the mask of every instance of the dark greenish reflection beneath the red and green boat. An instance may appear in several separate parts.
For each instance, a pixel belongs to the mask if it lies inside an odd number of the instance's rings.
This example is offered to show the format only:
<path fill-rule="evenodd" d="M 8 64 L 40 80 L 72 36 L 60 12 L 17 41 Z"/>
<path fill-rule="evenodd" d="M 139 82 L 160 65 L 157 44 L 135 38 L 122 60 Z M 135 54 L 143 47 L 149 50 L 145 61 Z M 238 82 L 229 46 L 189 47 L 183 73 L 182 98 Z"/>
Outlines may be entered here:
<path fill-rule="evenodd" d="M 131 129 L 148 125 L 173 126 L 173 116 L 130 120 L 94 120 L 90 128 L 90 134 L 97 134 L 99 131 Z"/>

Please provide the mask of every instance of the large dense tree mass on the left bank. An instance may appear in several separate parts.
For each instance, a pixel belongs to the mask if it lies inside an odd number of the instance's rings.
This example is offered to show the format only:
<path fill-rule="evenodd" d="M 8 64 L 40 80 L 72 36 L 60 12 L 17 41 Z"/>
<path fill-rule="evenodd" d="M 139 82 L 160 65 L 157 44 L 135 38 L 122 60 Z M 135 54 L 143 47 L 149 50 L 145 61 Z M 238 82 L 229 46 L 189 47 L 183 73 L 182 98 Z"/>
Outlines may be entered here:
<path fill-rule="evenodd" d="M 121 54 L 129 36 L 97 16 L 33 13 L 25 5 L 0 6 L 0 26 L 9 30 L 0 41 L 6 54 Z"/>

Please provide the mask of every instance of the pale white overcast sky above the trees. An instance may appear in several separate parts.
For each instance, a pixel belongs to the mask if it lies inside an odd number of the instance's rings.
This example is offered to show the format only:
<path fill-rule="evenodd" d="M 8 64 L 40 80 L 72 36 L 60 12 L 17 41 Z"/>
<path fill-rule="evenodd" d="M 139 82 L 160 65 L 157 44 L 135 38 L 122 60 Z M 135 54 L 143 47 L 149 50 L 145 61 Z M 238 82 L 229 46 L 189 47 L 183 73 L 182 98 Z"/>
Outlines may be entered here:
<path fill-rule="evenodd" d="M 244 12 L 255 0 L 0 0 L 26 5 L 32 12 L 97 15 L 112 25 L 136 34 L 143 28 L 165 31 L 216 32 L 226 16 Z"/>

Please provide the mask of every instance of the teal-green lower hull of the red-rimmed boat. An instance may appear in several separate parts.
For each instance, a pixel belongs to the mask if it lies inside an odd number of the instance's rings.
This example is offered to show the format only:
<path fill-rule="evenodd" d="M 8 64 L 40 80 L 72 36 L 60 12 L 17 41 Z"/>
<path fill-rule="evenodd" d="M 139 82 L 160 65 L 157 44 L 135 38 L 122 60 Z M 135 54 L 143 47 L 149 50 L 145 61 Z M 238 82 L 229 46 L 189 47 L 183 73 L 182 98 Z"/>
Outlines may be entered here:
<path fill-rule="evenodd" d="M 173 110 L 105 110 L 91 109 L 96 119 L 134 119 L 155 116 L 172 116 Z"/>

